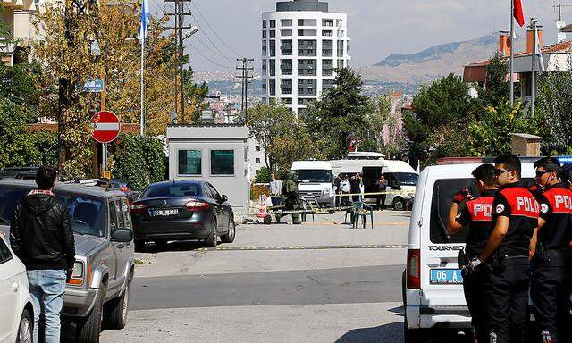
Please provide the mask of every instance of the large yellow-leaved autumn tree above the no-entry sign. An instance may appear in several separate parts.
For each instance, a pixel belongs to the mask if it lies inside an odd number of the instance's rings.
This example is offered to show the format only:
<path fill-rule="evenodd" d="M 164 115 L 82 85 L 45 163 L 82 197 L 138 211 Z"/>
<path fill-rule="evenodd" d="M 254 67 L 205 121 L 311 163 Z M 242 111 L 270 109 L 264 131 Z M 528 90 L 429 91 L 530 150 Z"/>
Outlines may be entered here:
<path fill-rule="evenodd" d="M 48 4 L 38 16 L 42 41 L 34 45 L 46 79 L 42 111 L 59 122 L 63 171 L 88 176 L 91 170 L 90 117 L 101 107 L 98 94 L 85 93 L 89 78 L 105 78 L 106 109 L 122 122 L 139 123 L 139 8 L 109 0 Z M 151 21 L 147 36 L 146 108 L 150 134 L 164 133 L 170 122 L 174 57 L 173 36 L 162 21 Z M 100 54 L 92 50 L 97 40 Z M 136 100 L 137 99 L 137 100 Z"/>

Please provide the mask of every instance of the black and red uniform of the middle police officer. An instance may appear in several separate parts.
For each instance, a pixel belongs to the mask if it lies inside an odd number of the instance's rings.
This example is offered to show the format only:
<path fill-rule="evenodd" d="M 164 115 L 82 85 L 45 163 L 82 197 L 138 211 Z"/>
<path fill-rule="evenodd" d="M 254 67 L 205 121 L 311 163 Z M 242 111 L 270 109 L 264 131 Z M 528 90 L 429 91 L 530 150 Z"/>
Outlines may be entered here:
<path fill-rule="evenodd" d="M 491 343 L 520 343 L 526 338 L 526 308 L 530 263 L 530 239 L 538 224 L 540 205 L 524 183 L 501 189 L 492 204 L 492 222 L 508 217 L 509 230 L 501 246 L 486 262 L 484 297 Z M 494 224 L 493 224 L 494 225 Z"/>

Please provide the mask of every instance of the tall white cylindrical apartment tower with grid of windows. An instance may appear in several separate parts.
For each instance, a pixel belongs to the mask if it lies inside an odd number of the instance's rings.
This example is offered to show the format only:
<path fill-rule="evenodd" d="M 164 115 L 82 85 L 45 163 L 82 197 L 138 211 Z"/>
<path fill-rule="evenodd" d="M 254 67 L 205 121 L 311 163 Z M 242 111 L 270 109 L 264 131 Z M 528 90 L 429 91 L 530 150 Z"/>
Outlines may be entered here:
<path fill-rule="evenodd" d="M 333 70 L 348 66 L 349 40 L 348 15 L 329 12 L 327 2 L 278 2 L 262 13 L 264 102 L 302 113 L 333 87 Z"/>

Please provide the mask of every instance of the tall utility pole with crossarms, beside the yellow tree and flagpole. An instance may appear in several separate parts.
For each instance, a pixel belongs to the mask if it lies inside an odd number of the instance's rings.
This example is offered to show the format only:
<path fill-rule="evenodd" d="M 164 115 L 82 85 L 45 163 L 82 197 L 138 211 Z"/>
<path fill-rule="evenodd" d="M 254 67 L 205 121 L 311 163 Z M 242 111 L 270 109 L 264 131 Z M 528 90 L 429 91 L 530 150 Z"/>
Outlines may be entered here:
<path fill-rule="evenodd" d="M 190 3 L 191 0 L 164 0 L 165 3 L 174 3 L 174 13 L 164 13 L 164 15 L 174 17 L 174 26 L 164 29 L 173 30 L 175 38 L 177 66 L 174 72 L 174 99 L 175 99 L 175 113 L 179 111 L 179 101 L 181 101 L 181 124 L 185 124 L 185 82 L 184 82 L 184 55 L 185 47 L 183 46 L 184 40 L 192 36 L 198 31 L 198 28 L 193 26 L 185 26 L 185 18 L 192 15 L 190 11 L 185 12 L 185 3 Z M 190 29 L 189 33 L 183 35 L 185 29 Z M 179 81 L 177 80 L 179 79 Z M 179 84 L 181 82 L 181 84 Z"/>

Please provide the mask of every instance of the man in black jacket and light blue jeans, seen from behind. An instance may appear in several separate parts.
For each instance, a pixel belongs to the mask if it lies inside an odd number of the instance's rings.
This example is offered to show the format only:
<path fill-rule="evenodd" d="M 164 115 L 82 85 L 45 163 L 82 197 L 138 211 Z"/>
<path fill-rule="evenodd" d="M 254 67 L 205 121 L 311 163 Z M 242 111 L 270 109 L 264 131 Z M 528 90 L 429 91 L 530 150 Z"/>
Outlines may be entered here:
<path fill-rule="evenodd" d="M 52 188 L 55 169 L 38 169 L 38 189 L 29 192 L 16 208 L 10 227 L 10 242 L 23 264 L 34 303 L 34 342 L 38 341 L 38 322 L 42 305 L 46 317 L 46 343 L 60 341 L 60 312 L 66 280 L 75 263 L 75 242 L 70 215 Z"/>

